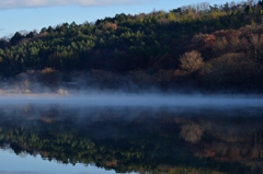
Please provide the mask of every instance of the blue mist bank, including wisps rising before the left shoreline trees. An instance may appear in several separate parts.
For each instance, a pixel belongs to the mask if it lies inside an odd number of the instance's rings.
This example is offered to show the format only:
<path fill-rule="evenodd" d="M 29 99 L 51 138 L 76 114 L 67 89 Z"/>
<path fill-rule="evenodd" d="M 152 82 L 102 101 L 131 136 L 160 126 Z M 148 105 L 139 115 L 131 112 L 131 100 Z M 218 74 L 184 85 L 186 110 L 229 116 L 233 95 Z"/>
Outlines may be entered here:
<path fill-rule="evenodd" d="M 191 92 L 162 91 L 139 88 L 130 80 L 116 79 L 108 85 L 105 73 L 72 73 L 64 77 L 46 68 L 27 71 L 13 79 L 2 80 L 0 107 L 7 105 L 64 105 L 66 107 L 180 107 L 180 108 L 230 108 L 262 107 L 263 96 L 256 94 L 202 94 Z M 96 77 L 99 76 L 99 77 Z M 100 83 L 98 82 L 98 79 Z M 62 80 L 64 79 L 64 80 Z M 122 79 L 122 78 L 121 78 Z"/>

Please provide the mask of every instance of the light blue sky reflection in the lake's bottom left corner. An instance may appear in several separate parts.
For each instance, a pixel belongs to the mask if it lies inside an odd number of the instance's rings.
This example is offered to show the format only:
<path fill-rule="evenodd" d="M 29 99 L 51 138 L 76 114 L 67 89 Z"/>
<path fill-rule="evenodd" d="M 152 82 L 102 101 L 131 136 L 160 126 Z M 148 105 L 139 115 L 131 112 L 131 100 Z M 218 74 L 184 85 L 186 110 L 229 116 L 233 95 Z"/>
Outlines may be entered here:
<path fill-rule="evenodd" d="M 30 155 L 21 152 L 15 155 L 13 150 L 5 147 L 0 150 L 0 174 L 113 174 L 113 170 L 105 171 L 96 166 L 83 165 L 81 163 L 61 164 L 56 160 L 44 160 L 39 154 Z"/>

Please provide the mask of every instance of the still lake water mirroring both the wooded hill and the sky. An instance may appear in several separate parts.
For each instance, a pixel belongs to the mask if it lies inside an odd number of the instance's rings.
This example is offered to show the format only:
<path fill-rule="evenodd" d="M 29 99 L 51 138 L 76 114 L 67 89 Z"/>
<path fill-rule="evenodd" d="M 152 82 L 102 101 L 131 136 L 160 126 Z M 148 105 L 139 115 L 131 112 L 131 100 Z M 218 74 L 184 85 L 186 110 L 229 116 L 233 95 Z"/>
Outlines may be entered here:
<path fill-rule="evenodd" d="M 20 100 L 0 101 L 0 174 L 263 173 L 261 98 Z"/>

